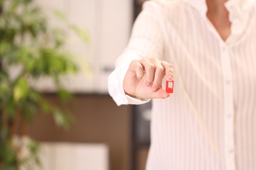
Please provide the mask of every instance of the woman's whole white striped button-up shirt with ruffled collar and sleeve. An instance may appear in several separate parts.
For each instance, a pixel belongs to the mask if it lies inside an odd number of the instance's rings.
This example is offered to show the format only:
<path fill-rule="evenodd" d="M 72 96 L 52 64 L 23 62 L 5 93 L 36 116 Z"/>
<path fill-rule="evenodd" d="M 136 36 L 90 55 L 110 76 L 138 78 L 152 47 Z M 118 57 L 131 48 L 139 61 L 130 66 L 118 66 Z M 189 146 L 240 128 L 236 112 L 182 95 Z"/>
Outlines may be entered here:
<path fill-rule="evenodd" d="M 256 15 L 254 0 L 230 0 L 223 41 L 205 0 L 144 4 L 129 44 L 109 76 L 117 105 L 141 104 L 123 92 L 133 59 L 174 66 L 174 93 L 152 100 L 148 170 L 256 169 Z"/>

